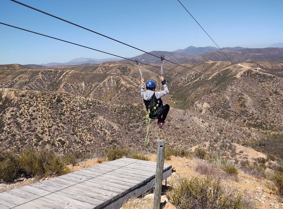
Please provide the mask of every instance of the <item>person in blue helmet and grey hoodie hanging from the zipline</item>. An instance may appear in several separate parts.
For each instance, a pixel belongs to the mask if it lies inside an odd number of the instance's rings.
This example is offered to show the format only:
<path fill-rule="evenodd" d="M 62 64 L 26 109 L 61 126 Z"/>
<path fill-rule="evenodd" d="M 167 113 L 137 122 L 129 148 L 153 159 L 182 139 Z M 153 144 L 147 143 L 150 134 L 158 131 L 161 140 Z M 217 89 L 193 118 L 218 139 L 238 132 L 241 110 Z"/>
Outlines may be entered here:
<path fill-rule="evenodd" d="M 144 79 L 141 80 L 141 86 L 140 86 L 140 93 L 143 97 L 144 103 L 146 105 L 146 108 L 148 108 L 148 102 L 152 99 L 153 96 L 156 97 L 157 100 L 159 100 L 159 103 L 161 104 L 161 112 L 158 116 L 157 124 L 159 124 L 160 128 L 163 128 L 165 119 L 167 117 L 167 114 L 169 112 L 170 106 L 168 104 L 163 105 L 161 97 L 165 96 L 169 93 L 168 87 L 166 85 L 166 81 L 164 80 L 163 76 L 160 77 L 160 80 L 163 84 L 163 91 L 155 91 L 156 85 L 154 81 L 147 81 L 146 84 L 144 83 Z M 146 86 L 146 91 L 144 90 Z"/>

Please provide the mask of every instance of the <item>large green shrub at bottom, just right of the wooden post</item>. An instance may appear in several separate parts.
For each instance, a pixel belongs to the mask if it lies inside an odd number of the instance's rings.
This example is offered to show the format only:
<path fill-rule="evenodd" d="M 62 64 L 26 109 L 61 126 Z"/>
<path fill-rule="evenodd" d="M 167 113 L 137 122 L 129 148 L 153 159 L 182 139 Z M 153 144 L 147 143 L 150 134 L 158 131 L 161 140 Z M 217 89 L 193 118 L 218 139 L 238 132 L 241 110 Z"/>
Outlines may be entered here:
<path fill-rule="evenodd" d="M 241 194 L 225 192 L 220 180 L 211 177 L 178 177 L 172 182 L 168 197 L 179 209 L 253 207 Z"/>

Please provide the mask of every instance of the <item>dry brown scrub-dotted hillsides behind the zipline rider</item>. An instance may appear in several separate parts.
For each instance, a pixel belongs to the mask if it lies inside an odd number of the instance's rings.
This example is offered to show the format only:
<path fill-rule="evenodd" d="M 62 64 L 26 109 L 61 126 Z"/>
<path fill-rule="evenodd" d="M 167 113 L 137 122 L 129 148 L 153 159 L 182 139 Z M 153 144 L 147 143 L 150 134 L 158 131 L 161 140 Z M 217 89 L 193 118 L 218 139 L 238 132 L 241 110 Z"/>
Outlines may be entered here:
<path fill-rule="evenodd" d="M 151 150 L 158 137 L 179 148 L 225 138 L 252 141 L 258 149 L 280 154 L 269 142 L 275 138 L 282 143 L 282 62 L 184 65 L 213 78 L 181 66 L 164 66 L 188 75 L 165 70 L 170 93 L 164 102 L 171 109 L 164 130 L 152 121 L 148 147 L 140 76 L 133 63 L 40 69 L 1 65 L 1 149 L 43 145 L 62 152 L 117 144 Z M 157 81 L 159 88 L 160 70 L 142 70 L 144 78 Z"/>

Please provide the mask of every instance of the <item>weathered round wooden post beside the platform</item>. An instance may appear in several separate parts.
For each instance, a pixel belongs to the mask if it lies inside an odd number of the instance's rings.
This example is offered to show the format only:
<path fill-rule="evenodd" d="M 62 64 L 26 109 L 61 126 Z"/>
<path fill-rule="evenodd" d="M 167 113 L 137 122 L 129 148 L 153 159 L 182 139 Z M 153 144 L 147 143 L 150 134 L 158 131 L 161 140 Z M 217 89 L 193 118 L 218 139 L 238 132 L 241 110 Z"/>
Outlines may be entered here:
<path fill-rule="evenodd" d="M 157 162 L 156 162 L 153 209 L 160 209 L 165 143 L 164 143 L 164 139 L 157 139 L 156 141 L 157 141 Z"/>

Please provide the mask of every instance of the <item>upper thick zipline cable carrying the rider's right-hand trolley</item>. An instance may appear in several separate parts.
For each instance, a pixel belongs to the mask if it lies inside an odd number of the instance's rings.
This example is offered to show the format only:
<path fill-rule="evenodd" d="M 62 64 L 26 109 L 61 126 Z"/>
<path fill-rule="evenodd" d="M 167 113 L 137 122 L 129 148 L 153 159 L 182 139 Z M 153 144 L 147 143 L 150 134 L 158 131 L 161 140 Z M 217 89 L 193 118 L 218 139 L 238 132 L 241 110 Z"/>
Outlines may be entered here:
<path fill-rule="evenodd" d="M 151 54 L 151 53 L 149 53 L 149 52 L 146 52 L 146 51 L 144 51 L 144 50 L 142 50 L 142 49 L 139 49 L 139 48 L 137 48 L 137 47 L 131 46 L 131 45 L 127 44 L 127 43 L 124 43 L 124 42 L 121 42 L 121 41 L 116 40 L 116 39 L 114 39 L 114 38 L 111 38 L 111 37 L 109 37 L 109 36 L 103 35 L 102 33 L 98 33 L 98 32 L 96 32 L 96 31 L 94 31 L 94 30 L 90 30 L 90 29 L 88 29 L 88 28 L 86 28 L 86 27 L 83 27 L 83 26 L 80 26 L 80 25 L 78 25 L 78 24 L 72 23 L 72 22 L 70 22 L 70 21 L 68 21 L 68 20 L 64 20 L 64 19 L 61 18 L 61 17 L 57 17 L 57 16 L 55 16 L 55 15 L 53 15 L 53 14 L 49 14 L 49 13 L 47 13 L 47 12 L 45 12 L 45 11 L 36 9 L 36 8 L 34 8 L 34 7 L 32 7 L 32 6 L 29 6 L 29 5 L 26 5 L 26 4 L 24 4 L 24 3 L 18 2 L 18 1 L 16 1 L 16 0 L 10 0 L 10 1 L 15 2 L 15 3 L 17 3 L 17 4 L 20 4 L 20 5 L 23 5 L 23 6 L 25 6 L 25 7 L 28 7 L 28 8 L 30 8 L 30 9 L 39 11 L 39 12 L 41 12 L 41 13 L 43 13 L 43 14 L 49 15 L 49 16 L 51 16 L 51 17 L 54 17 L 54 18 L 56 18 L 56 19 L 58 19 L 58 20 L 64 21 L 64 22 L 69 23 L 69 24 L 72 24 L 72 25 L 74 25 L 74 26 L 83 28 L 83 29 L 88 30 L 88 31 L 90 31 L 90 32 L 92 32 L 92 33 L 96 33 L 96 34 L 98 34 L 98 35 L 100 35 L 100 36 L 104 36 L 105 38 L 111 39 L 111 40 L 113 40 L 113 41 L 116 41 L 116 42 L 118 42 L 118 43 L 124 44 L 124 45 L 126 45 L 126 46 L 131 47 L 131 48 L 137 49 L 137 50 L 139 50 L 139 51 L 141 51 L 141 52 L 144 52 L 144 53 L 147 53 L 147 54 L 149 54 L 149 55 L 152 55 L 152 56 L 155 56 L 155 57 L 157 57 L 157 58 L 160 58 L 159 56 L 156 56 L 156 55 Z M 220 49 L 220 50 L 221 50 L 221 49 Z M 119 57 L 119 56 L 118 56 L 118 57 Z M 228 59 L 229 59 L 229 58 L 228 58 Z M 196 71 L 196 72 L 198 72 L 198 73 L 207 75 L 207 76 L 209 76 L 209 77 L 212 77 L 212 78 L 215 78 L 215 79 L 218 80 L 218 78 L 213 77 L 213 76 L 210 76 L 210 75 L 208 75 L 208 74 L 206 74 L 206 73 L 199 72 L 199 71 L 197 71 L 197 70 L 194 70 L 194 69 L 192 69 L 192 68 L 188 68 L 188 67 L 186 67 L 186 66 L 184 66 L 184 65 L 180 65 L 180 64 L 178 64 L 178 63 L 169 61 L 169 60 L 167 60 L 167 59 L 164 59 L 164 60 L 167 61 L 167 62 L 171 62 L 171 63 L 173 63 L 173 64 L 175 64 L 175 65 L 179 65 L 179 66 L 181 66 L 181 67 L 190 69 L 190 70 L 192 70 L 192 71 Z M 230 60 L 230 59 L 229 59 L 229 60 Z M 143 64 L 143 63 L 142 63 L 142 64 Z M 151 65 L 151 66 L 152 66 L 152 65 Z M 181 74 L 182 74 L 182 73 L 181 73 Z"/>

